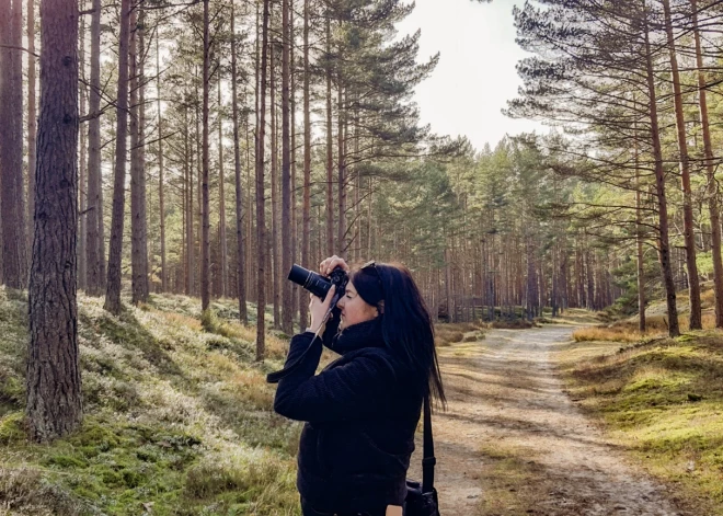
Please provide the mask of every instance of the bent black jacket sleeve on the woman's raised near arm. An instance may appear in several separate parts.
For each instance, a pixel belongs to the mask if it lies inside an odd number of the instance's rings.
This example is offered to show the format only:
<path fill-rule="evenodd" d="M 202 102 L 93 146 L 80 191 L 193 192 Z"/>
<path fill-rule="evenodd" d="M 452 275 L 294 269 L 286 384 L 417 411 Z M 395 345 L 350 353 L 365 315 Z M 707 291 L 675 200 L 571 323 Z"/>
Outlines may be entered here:
<path fill-rule="evenodd" d="M 311 333 L 295 336 L 287 360 L 303 353 L 311 339 Z M 274 411 L 290 420 L 319 423 L 362 420 L 378 414 L 386 394 L 394 389 L 391 364 L 380 355 L 360 355 L 314 376 L 321 343 L 317 339 L 311 345 L 314 348 L 305 357 L 305 363 L 278 382 Z"/>

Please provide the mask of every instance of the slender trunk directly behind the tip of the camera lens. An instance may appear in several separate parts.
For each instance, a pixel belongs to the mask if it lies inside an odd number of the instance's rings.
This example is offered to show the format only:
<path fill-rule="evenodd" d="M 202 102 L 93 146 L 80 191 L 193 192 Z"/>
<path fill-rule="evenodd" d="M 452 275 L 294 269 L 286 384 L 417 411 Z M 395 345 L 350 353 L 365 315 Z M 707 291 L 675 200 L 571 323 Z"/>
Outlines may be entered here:
<path fill-rule="evenodd" d="M 291 270 L 291 134 L 290 134 L 290 73 L 289 1 L 282 0 L 282 273 Z M 294 300 L 291 282 L 283 282 L 282 330 L 294 333 Z"/>

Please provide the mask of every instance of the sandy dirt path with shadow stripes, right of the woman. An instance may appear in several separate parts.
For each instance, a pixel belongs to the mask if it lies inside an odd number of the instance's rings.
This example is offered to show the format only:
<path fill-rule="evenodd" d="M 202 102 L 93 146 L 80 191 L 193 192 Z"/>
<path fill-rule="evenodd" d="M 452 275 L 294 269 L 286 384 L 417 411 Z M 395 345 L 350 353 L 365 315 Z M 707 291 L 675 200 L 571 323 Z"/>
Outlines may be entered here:
<path fill-rule="evenodd" d="M 682 514 L 563 393 L 550 355 L 571 331 L 494 330 L 440 348 L 449 399 L 434 417 L 441 516 Z M 415 478 L 421 452 L 420 434 Z"/>

